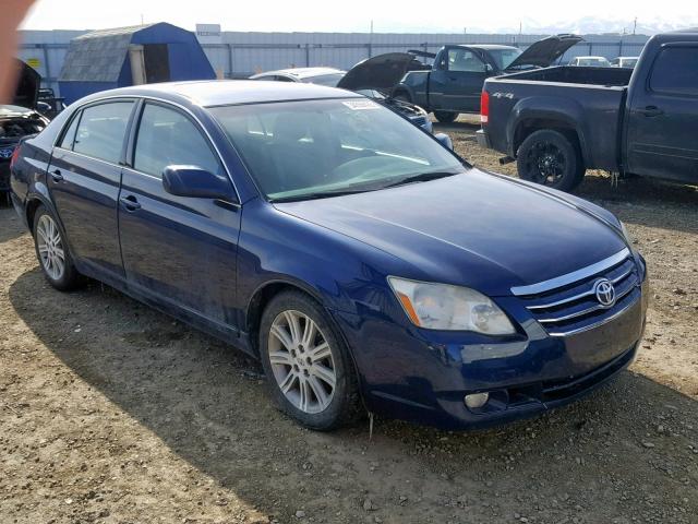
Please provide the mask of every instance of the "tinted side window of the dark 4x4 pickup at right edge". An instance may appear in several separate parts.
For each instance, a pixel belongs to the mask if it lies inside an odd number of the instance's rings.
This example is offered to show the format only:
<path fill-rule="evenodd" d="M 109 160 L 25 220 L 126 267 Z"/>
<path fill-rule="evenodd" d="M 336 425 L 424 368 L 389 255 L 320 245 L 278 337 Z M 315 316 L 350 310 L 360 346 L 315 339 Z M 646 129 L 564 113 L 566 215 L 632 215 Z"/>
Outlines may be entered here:
<path fill-rule="evenodd" d="M 658 93 L 698 96 L 698 47 L 663 49 L 654 60 L 650 88 Z"/>

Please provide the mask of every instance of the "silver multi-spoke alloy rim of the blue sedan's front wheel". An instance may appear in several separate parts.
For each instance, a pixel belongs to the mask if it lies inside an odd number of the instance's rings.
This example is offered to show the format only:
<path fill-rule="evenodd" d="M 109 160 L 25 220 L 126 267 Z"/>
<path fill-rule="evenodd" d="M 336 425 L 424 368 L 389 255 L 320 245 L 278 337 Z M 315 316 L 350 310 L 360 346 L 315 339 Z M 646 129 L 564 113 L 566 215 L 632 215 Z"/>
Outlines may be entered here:
<path fill-rule="evenodd" d="M 332 403 L 337 374 L 332 348 L 315 321 L 305 313 L 279 313 L 269 330 L 269 364 L 286 398 L 298 409 L 315 414 Z"/>

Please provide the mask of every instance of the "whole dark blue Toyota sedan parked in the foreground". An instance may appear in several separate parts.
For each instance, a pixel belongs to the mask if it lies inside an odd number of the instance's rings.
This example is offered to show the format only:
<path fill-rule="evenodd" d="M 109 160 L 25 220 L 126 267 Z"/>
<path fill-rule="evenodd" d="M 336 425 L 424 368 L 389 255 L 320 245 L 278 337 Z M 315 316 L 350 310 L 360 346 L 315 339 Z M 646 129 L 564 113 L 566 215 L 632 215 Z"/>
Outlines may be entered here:
<path fill-rule="evenodd" d="M 11 183 L 53 287 L 96 278 L 257 357 L 313 429 L 530 416 L 627 367 L 645 327 L 611 213 L 332 87 L 95 94 L 22 144 Z"/>

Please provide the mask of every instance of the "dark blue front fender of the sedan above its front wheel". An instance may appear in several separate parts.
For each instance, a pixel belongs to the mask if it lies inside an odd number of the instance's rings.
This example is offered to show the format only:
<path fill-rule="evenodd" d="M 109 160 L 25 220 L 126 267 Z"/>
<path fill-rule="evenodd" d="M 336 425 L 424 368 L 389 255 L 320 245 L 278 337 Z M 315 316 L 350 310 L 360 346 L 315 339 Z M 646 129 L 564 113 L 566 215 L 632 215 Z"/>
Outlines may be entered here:
<path fill-rule="evenodd" d="M 328 310 L 357 314 L 364 308 L 375 309 L 376 297 L 392 297 L 386 274 L 405 272 L 404 265 L 377 248 L 257 199 L 245 204 L 242 213 L 238 307 L 248 321 L 261 289 L 288 284 Z"/>

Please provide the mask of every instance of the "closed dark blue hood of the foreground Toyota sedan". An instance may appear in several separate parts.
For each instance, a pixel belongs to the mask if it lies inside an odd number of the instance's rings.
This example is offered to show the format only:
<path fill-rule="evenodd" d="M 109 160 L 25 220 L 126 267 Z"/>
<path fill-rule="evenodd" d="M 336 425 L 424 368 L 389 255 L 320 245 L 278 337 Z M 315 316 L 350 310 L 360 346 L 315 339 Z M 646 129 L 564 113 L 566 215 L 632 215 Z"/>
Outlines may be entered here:
<path fill-rule="evenodd" d="M 429 182 L 274 205 L 398 258 L 409 266 L 399 276 L 507 296 L 513 286 L 570 273 L 626 247 L 617 230 L 579 202 L 470 169 Z"/>

